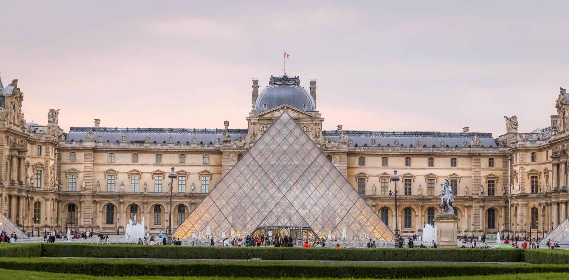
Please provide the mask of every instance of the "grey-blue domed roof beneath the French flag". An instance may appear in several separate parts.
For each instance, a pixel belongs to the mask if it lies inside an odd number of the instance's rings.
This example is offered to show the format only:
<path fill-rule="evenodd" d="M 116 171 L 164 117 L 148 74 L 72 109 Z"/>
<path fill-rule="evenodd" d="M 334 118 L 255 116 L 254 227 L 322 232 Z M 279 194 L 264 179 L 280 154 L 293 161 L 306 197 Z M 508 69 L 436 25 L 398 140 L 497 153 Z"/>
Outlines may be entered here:
<path fill-rule="evenodd" d="M 315 111 L 316 106 L 310 93 L 300 86 L 299 77 L 273 77 L 255 102 L 255 110 L 270 110 L 288 104 L 303 111 Z"/>

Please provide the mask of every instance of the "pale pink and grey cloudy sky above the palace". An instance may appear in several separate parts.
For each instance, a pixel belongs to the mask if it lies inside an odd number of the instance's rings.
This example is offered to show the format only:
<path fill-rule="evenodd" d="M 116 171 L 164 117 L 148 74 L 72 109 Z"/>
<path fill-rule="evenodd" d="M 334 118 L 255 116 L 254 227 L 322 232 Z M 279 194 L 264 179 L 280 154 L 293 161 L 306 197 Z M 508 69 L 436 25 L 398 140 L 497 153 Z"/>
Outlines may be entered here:
<path fill-rule="evenodd" d="M 569 88 L 569 1 L 7 1 L 28 122 L 247 128 L 251 78 L 317 79 L 324 129 L 505 133 Z M 259 88 L 259 91 L 262 87 Z"/>

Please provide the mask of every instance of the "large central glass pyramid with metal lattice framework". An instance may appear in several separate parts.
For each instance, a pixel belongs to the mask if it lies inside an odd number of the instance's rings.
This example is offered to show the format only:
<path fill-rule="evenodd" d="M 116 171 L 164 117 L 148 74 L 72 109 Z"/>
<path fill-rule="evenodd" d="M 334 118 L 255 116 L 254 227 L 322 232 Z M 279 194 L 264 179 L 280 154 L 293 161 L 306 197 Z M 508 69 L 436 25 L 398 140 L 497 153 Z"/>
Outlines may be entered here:
<path fill-rule="evenodd" d="M 393 232 L 286 111 L 211 190 L 173 235 L 222 237 L 257 228 L 310 228 L 348 239 Z"/>

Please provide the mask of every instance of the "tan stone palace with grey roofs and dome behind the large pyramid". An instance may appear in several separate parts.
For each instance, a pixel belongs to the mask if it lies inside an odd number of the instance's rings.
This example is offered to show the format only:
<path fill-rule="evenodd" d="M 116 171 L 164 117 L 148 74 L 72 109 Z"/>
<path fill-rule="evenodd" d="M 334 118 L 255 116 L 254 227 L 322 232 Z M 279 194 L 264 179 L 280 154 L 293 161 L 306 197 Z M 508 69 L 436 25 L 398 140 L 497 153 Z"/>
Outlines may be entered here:
<path fill-rule="evenodd" d="M 494 139 L 468 127 L 325 131 L 316 111 L 316 80 L 309 82 L 306 89 L 298 77 L 271 76 L 265 87 L 254 78 L 244 129 L 230 129 L 229 122 L 218 129 L 101 127 L 95 119 L 67 133 L 58 126 L 59 110 L 49 110 L 47 125 L 26 123 L 18 80 L 6 87 L 0 82 L 0 210 L 27 232 L 57 227 L 109 234 L 123 233 L 134 215 L 138 222 L 145 218 L 147 231 L 165 231 L 171 211 L 173 231 L 286 110 L 391 229 L 389 177 L 398 171 L 403 235 L 420 235 L 438 215 L 444 179 L 455 193 L 457 235 L 542 236 L 567 218 L 564 89 L 550 127 L 519 133 L 512 116 L 505 134 Z M 170 204 L 172 167 L 178 178 Z"/>

